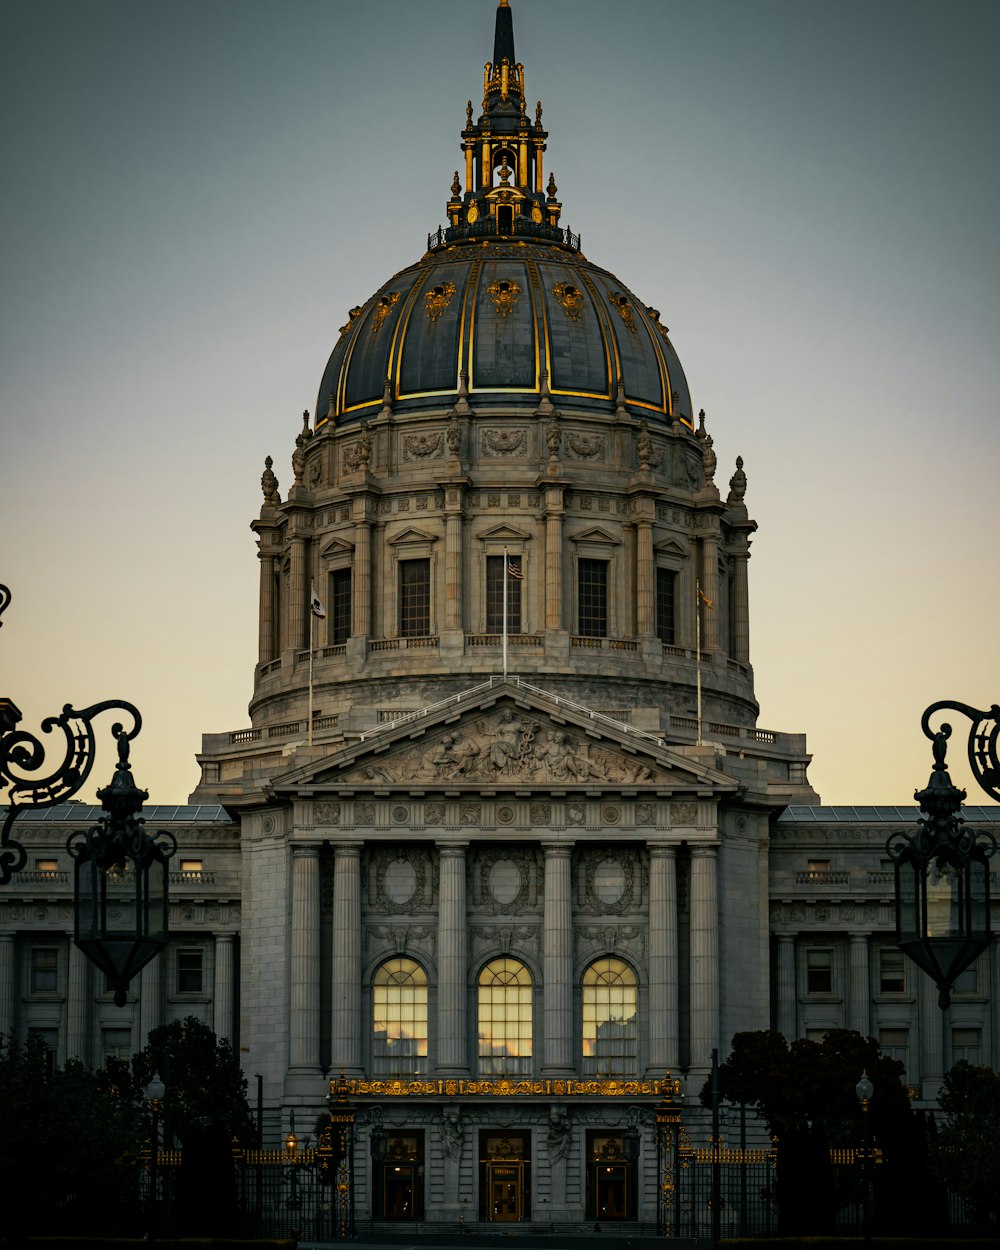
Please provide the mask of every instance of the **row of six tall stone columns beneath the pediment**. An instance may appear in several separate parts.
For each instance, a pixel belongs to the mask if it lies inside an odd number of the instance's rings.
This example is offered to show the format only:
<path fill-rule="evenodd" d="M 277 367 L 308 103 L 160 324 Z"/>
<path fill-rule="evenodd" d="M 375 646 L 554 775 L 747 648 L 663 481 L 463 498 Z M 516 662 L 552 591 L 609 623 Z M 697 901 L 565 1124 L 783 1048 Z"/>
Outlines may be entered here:
<path fill-rule="evenodd" d="M 334 846 L 334 932 L 331 952 L 330 1068 L 348 1075 L 364 1071 L 362 1039 L 370 1036 L 362 1018 L 362 929 L 360 841 Z M 436 920 L 436 1046 L 439 1076 L 469 1076 L 475 1021 L 469 1020 L 469 940 L 466 866 L 469 844 L 438 844 L 439 898 Z M 541 932 L 542 1008 L 539 1071 L 551 1079 L 579 1070 L 574 1019 L 578 979 L 572 924 L 572 844 L 542 842 L 544 912 Z M 678 939 L 676 842 L 650 842 L 648 946 L 648 1072 L 678 1071 L 681 1059 L 680 956 Z M 291 960 L 289 995 L 290 1075 L 320 1070 L 319 1012 L 321 1000 L 319 951 L 319 850 L 292 849 Z M 718 848 L 699 844 L 691 851 L 690 985 L 688 1058 L 695 1070 L 708 1070 L 719 1038 L 719 905 Z M 610 952 L 609 952 L 610 954 Z M 621 951 L 628 958 L 628 951 Z"/>

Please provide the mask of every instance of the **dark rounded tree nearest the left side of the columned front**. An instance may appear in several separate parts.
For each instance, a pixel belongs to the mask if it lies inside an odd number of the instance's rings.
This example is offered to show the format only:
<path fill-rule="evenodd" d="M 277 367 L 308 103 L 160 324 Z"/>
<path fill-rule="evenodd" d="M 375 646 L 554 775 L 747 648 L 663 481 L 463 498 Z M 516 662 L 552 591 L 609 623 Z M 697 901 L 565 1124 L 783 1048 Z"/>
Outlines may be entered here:
<path fill-rule="evenodd" d="M 179 1231 L 232 1235 L 238 1222 L 232 1146 L 254 1145 L 256 1129 L 231 1044 L 188 1016 L 154 1029 L 132 1068 L 141 1085 L 154 1072 L 165 1085 L 164 1140 L 176 1139 L 182 1148 Z"/>

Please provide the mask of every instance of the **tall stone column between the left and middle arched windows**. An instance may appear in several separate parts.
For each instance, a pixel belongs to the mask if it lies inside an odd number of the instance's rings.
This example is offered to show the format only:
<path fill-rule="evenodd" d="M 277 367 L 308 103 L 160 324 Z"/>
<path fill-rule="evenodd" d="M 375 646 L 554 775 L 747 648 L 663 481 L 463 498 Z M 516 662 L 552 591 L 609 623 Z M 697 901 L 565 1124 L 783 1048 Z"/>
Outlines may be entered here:
<path fill-rule="evenodd" d="M 438 900 L 438 1071 L 469 1071 L 465 850 L 468 842 L 439 844 Z"/>

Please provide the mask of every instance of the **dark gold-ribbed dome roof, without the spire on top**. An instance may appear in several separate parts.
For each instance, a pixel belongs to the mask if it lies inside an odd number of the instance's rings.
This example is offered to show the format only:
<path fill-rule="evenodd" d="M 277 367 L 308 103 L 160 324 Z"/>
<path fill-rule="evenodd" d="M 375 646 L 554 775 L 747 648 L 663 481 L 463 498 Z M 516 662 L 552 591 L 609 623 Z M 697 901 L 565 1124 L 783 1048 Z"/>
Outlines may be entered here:
<path fill-rule="evenodd" d="M 351 310 L 320 382 L 320 424 L 371 415 L 386 380 L 396 412 L 451 406 L 462 374 L 478 409 L 534 409 L 548 374 L 561 408 L 612 414 L 621 384 L 636 415 L 690 426 L 660 314 L 569 239 L 432 235 L 421 260 Z"/>

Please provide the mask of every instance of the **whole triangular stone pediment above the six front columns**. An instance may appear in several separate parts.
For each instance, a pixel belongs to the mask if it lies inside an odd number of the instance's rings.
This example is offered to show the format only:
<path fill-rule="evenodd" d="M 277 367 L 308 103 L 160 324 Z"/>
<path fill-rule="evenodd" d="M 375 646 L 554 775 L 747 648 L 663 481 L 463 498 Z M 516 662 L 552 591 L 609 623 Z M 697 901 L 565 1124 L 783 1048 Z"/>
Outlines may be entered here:
<path fill-rule="evenodd" d="M 372 730 L 334 756 L 272 778 L 271 786 L 275 792 L 736 789 L 732 778 L 675 754 L 665 739 L 570 710 L 555 696 L 471 694 L 434 718 Z"/>

